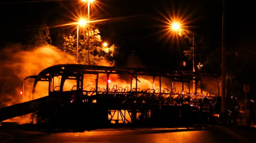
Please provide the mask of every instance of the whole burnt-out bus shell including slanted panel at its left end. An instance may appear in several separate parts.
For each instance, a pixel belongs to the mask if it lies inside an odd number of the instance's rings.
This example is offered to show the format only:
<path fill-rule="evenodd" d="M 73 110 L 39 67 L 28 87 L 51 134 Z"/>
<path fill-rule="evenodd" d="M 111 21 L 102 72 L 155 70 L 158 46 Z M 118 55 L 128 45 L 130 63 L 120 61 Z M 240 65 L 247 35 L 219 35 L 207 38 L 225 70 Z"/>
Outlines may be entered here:
<path fill-rule="evenodd" d="M 200 100 L 215 104 L 220 92 L 216 75 L 147 68 L 63 64 L 28 78 L 32 100 L 0 109 L 0 121 L 33 113 L 71 126 L 193 124 Z"/>

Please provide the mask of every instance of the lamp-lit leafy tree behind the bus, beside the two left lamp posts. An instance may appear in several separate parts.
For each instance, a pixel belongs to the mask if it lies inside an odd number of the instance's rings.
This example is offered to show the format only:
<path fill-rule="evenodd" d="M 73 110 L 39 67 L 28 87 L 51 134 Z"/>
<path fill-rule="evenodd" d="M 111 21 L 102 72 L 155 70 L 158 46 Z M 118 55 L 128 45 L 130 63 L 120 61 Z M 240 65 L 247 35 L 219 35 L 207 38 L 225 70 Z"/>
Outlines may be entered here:
<path fill-rule="evenodd" d="M 112 44 L 110 47 L 104 47 L 99 35 L 98 29 L 90 30 L 90 60 L 91 65 L 99 65 L 100 61 L 108 61 L 112 66 L 115 65 L 116 59 L 118 58 L 119 47 Z M 82 32 L 79 35 L 78 41 L 78 63 L 88 64 L 88 32 Z M 69 35 L 64 38 L 64 49 L 65 52 L 76 57 L 77 55 L 77 39 L 75 36 Z"/>

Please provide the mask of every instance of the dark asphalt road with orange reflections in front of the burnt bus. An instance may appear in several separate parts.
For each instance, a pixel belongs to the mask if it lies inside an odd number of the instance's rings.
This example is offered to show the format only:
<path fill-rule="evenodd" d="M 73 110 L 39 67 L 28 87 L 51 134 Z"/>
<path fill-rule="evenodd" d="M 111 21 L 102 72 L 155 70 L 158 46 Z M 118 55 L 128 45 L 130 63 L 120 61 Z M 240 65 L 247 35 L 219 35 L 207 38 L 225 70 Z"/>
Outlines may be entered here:
<path fill-rule="evenodd" d="M 191 128 L 106 128 L 75 132 L 12 126 L 0 129 L 0 142 L 256 142 L 256 128 L 200 125 Z"/>

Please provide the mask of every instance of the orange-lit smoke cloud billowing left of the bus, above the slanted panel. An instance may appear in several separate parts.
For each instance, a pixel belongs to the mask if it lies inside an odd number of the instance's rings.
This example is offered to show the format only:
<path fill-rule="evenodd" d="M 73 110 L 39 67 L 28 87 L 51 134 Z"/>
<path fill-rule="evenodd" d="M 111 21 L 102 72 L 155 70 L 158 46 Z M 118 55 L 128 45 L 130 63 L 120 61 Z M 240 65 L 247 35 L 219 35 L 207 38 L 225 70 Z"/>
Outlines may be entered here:
<path fill-rule="evenodd" d="M 75 63 L 74 57 L 57 47 L 47 45 L 26 49 L 21 44 L 10 44 L 0 50 L 1 107 L 21 103 L 24 78 L 56 64 Z"/>

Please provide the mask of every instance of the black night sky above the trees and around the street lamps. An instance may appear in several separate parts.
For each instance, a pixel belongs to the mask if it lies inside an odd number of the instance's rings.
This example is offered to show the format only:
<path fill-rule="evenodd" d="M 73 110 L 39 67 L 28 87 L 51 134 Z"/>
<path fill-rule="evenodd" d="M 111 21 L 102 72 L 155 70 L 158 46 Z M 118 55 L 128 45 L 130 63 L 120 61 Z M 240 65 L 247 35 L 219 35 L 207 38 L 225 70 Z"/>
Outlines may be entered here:
<path fill-rule="evenodd" d="M 51 34 L 60 29 L 55 26 L 74 22 L 79 13 L 87 13 L 86 8 L 78 0 L 1 1 L 0 48 L 6 43 L 23 42 L 29 31 L 44 24 L 50 27 Z M 243 48 L 244 44 L 255 48 L 253 3 L 226 1 L 225 14 L 227 49 Z M 91 20 L 109 19 L 96 23 L 102 40 L 121 46 L 122 58 L 133 54 L 147 66 L 170 66 L 178 57 L 184 60 L 182 51 L 188 50 L 191 43 L 166 30 L 176 19 L 182 20 L 184 27 L 194 33 L 195 45 L 199 45 L 200 37 L 205 37 L 208 45 L 221 47 L 221 0 L 99 0 L 91 7 L 90 17 Z M 61 28 L 66 34 L 76 34 L 75 25 Z"/>

